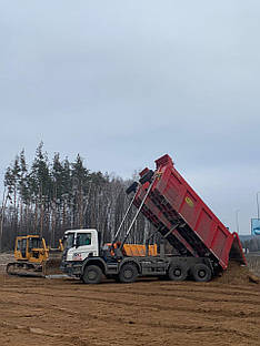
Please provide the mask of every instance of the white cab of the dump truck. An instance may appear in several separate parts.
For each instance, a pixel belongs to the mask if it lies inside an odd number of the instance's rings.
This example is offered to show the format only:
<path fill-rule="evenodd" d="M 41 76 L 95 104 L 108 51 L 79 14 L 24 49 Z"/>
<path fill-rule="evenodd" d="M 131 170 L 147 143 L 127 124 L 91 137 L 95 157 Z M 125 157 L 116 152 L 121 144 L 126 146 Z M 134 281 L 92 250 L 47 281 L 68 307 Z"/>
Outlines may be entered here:
<path fill-rule="evenodd" d="M 99 256 L 98 231 L 94 228 L 69 230 L 64 232 L 66 261 L 84 261 Z"/>

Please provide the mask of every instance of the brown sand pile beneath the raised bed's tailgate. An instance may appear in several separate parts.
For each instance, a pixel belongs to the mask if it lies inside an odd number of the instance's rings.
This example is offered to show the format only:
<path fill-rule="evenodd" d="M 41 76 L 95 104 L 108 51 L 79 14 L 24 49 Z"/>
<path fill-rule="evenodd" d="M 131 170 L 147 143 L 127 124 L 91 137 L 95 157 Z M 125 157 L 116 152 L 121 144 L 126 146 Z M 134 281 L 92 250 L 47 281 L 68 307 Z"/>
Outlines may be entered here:
<path fill-rule="evenodd" d="M 260 284 L 260 277 L 250 272 L 248 266 L 230 261 L 228 269 L 220 277 L 217 277 L 216 282 L 230 285 Z"/>

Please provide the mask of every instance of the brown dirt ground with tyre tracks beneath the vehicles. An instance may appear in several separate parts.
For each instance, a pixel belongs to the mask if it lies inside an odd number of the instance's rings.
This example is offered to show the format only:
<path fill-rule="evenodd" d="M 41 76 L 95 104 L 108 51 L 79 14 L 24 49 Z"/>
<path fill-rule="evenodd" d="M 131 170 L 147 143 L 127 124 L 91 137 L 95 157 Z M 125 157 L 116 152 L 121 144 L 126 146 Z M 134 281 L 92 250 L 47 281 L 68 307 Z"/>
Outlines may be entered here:
<path fill-rule="evenodd" d="M 259 325 L 260 285 L 238 265 L 204 284 L 83 285 L 0 273 L 1 346 L 257 346 Z"/>

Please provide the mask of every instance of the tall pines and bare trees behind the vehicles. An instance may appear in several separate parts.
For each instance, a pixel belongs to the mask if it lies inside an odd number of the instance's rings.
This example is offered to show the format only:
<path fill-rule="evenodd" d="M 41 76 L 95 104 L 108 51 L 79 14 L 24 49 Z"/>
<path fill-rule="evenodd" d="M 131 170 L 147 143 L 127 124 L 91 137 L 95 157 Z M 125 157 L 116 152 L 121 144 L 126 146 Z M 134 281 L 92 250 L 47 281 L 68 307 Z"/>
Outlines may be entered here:
<path fill-rule="evenodd" d="M 131 181 L 91 172 L 78 154 L 73 162 L 56 153 L 49 160 L 41 142 L 29 166 L 22 150 L 7 169 L 0 211 L 0 250 L 13 248 L 17 235 L 39 234 L 56 246 L 66 230 L 91 228 L 110 242 L 129 205 Z M 122 233 L 136 213 L 132 208 Z M 140 215 L 130 242 L 141 243 L 152 232 Z"/>

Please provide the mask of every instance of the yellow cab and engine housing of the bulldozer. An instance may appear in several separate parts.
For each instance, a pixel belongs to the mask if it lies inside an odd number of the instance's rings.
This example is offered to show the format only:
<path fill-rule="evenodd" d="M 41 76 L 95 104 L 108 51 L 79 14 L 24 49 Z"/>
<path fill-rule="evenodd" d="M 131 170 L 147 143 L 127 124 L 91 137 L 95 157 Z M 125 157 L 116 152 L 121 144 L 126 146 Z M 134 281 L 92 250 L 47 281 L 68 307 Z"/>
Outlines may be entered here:
<path fill-rule="evenodd" d="M 14 258 L 17 261 L 29 261 L 42 263 L 48 260 L 46 241 L 39 235 L 18 236 L 16 240 Z"/>

